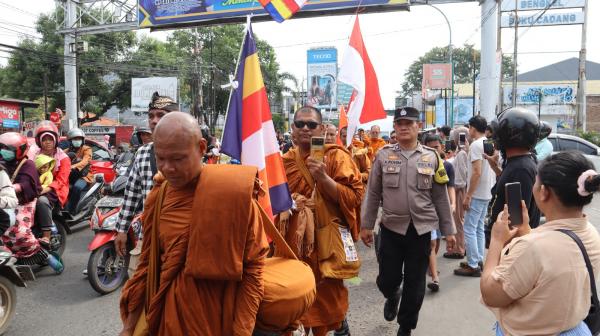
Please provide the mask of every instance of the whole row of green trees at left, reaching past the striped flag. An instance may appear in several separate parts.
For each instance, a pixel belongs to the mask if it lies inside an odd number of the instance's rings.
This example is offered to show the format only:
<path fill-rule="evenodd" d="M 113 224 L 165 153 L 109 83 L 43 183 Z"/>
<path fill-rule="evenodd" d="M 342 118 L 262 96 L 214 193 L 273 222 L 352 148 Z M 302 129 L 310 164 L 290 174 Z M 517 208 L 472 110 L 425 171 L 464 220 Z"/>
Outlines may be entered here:
<path fill-rule="evenodd" d="M 49 110 L 64 109 L 64 42 L 56 32 L 57 22 L 62 21 L 57 16 L 57 12 L 41 15 L 36 23 L 41 40 L 21 40 L 21 50 L 12 52 L 6 67 L 0 68 L 0 96 L 41 99 L 46 77 Z M 214 132 L 229 100 L 229 89 L 220 86 L 235 73 L 243 33 L 242 25 L 221 25 L 177 30 L 166 42 L 138 37 L 135 32 L 80 37 L 89 46 L 78 57 L 81 110 L 101 115 L 111 106 L 127 108 L 131 78 L 172 76 L 179 78 L 184 106 L 191 106 L 194 96 L 202 92 L 198 117 Z M 286 81 L 295 78 L 279 73 L 275 51 L 267 42 L 256 37 L 256 43 L 269 100 L 280 101 L 282 92 L 292 91 Z"/>

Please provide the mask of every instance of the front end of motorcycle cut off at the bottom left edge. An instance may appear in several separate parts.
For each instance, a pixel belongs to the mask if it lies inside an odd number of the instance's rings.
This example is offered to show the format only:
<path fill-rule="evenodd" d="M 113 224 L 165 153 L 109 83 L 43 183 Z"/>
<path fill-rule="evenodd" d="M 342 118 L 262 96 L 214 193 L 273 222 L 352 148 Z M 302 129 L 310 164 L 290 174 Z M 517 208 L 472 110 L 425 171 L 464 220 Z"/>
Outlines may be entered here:
<path fill-rule="evenodd" d="M 16 259 L 7 250 L 0 250 L 0 335 L 8 329 L 17 306 L 15 286 L 27 287 L 25 281 L 35 280 L 31 268 L 16 265 Z"/>

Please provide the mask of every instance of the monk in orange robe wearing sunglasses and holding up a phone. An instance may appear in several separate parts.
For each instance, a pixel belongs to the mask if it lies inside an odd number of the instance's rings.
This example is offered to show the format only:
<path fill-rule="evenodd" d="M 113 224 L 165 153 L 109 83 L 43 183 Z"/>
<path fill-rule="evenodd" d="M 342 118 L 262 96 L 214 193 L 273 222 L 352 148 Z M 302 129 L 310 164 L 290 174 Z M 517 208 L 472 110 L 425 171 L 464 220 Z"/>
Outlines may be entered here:
<path fill-rule="evenodd" d="M 348 289 L 341 279 L 322 277 L 317 255 L 319 250 L 326 249 L 327 246 L 316 244 L 314 230 L 323 223 L 318 222 L 312 211 L 308 211 L 307 215 L 306 208 L 316 208 L 313 209 L 315 213 L 319 211 L 319 207 L 334 209 L 332 212 L 340 214 L 334 220 L 347 227 L 356 239 L 356 208 L 360 205 L 364 189 L 360 172 L 345 148 L 325 145 L 323 161 L 309 157 L 311 137 L 322 136 L 324 133 L 319 110 L 312 107 L 300 108 L 294 115 L 292 129 L 297 147 L 284 155 L 283 163 L 297 209 L 289 221 L 280 218 L 279 226 L 283 228 L 284 236 L 294 252 L 311 266 L 317 280 L 316 302 L 301 322 L 309 332 L 312 330 L 313 335 L 325 336 L 331 330 L 347 329 L 345 316 L 348 311 Z M 320 199 L 324 201 L 312 202 L 313 191 L 319 193 Z M 306 218 L 307 216 L 310 218 Z M 309 222 L 315 221 L 314 226 L 308 225 L 304 239 L 298 239 L 298 232 L 304 229 L 301 222 L 306 219 Z M 302 229 L 299 230 L 300 227 Z"/>

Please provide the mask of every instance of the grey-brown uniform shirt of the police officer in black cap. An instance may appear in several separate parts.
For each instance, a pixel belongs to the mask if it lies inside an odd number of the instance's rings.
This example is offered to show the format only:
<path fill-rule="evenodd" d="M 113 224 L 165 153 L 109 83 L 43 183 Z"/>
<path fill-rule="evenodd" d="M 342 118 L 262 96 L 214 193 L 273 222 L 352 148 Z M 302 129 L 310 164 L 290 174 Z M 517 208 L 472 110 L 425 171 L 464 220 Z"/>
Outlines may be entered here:
<path fill-rule="evenodd" d="M 443 235 L 455 234 L 441 162 L 434 149 L 421 144 L 413 151 L 402 151 L 398 144 L 383 147 L 369 176 L 362 228 L 373 229 L 383 201 L 382 223 L 391 231 L 406 235 L 412 221 L 419 235 L 438 228 Z M 435 181 L 436 172 L 443 183 Z"/>

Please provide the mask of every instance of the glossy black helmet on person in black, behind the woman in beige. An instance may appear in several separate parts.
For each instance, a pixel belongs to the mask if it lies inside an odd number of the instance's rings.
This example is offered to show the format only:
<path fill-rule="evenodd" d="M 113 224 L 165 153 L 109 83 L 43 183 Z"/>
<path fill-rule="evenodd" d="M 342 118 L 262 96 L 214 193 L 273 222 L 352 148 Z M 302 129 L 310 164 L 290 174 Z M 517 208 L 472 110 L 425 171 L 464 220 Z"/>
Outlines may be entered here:
<path fill-rule="evenodd" d="M 498 116 L 494 139 L 501 151 L 507 148 L 532 149 L 539 134 L 540 122 L 535 113 L 522 107 L 513 107 Z"/>

